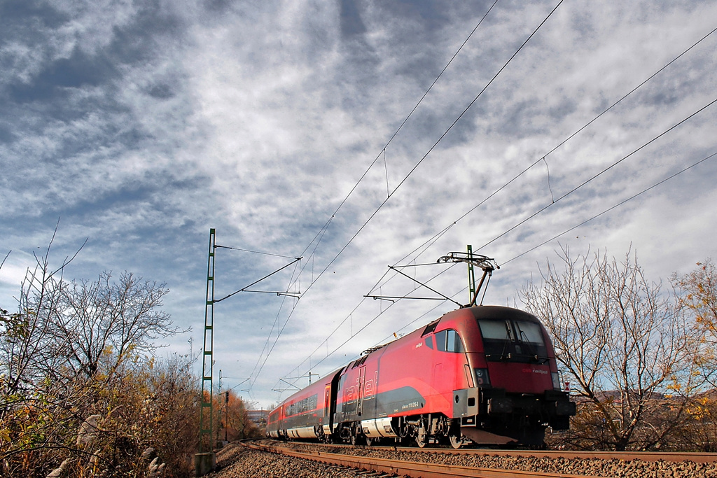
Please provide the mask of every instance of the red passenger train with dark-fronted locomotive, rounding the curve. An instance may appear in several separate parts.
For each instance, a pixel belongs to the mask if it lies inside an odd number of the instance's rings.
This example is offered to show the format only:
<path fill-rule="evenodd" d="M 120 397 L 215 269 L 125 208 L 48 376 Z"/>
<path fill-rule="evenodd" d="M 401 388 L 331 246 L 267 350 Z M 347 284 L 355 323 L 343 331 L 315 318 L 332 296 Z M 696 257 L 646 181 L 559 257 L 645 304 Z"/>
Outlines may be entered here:
<path fill-rule="evenodd" d="M 495 305 L 448 312 L 366 350 L 282 401 L 267 437 L 350 444 L 543 446 L 576 406 L 537 317 Z"/>

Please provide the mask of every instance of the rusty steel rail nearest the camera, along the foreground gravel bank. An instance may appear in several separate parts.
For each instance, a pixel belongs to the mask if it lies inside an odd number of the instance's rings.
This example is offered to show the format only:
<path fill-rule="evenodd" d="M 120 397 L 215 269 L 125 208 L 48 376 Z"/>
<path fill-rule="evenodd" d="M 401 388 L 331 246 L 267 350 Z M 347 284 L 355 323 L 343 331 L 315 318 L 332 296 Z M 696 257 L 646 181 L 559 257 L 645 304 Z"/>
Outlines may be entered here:
<path fill-rule="evenodd" d="M 516 469 L 488 469 L 462 467 L 449 464 L 405 462 L 382 458 L 359 457 L 326 453 L 321 451 L 298 451 L 280 446 L 259 445 L 242 442 L 247 448 L 282 454 L 287 457 L 309 459 L 314 462 L 335 464 L 342 467 L 366 469 L 371 472 L 408 476 L 412 478 L 597 478 L 592 475 L 576 475 L 564 473 L 524 472 Z"/>

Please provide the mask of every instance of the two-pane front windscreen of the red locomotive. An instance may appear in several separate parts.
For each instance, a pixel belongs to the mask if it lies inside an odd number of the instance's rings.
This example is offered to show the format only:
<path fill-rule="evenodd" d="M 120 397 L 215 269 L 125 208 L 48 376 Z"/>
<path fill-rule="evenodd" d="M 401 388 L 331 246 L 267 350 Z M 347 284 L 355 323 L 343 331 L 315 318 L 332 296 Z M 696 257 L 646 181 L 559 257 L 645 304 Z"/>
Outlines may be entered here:
<path fill-rule="evenodd" d="M 486 360 L 544 362 L 548 360 L 540 325 L 527 320 L 478 319 Z"/>

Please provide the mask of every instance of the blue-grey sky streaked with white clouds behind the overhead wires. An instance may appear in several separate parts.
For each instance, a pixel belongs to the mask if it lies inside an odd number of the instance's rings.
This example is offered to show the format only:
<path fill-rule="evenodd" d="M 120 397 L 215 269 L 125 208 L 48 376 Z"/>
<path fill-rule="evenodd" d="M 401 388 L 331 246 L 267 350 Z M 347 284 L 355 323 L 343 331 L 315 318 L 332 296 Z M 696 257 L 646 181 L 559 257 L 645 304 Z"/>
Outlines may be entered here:
<path fill-rule="evenodd" d="M 467 244 L 484 304 L 563 247 L 666 286 L 717 257 L 716 28 L 710 0 L 0 0 L 0 307 L 57 228 L 66 279 L 166 283 L 191 330 L 157 354 L 199 355 L 214 228 L 215 300 L 278 271 L 214 304 L 215 379 L 266 407 L 457 307 L 366 295 L 468 302 L 434 264 Z"/>

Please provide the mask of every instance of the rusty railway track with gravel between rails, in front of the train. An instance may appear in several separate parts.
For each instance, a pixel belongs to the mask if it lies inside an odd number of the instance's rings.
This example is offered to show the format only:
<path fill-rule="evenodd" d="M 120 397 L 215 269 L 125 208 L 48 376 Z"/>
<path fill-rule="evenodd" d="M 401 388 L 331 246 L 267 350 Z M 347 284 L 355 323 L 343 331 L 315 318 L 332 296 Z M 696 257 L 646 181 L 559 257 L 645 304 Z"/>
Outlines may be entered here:
<path fill-rule="evenodd" d="M 427 450 L 394 446 L 356 448 L 272 441 L 252 442 L 244 446 L 333 467 L 364 469 L 367 470 L 367 477 L 571 478 L 640 477 L 646 474 L 655 477 L 717 477 L 717 454 Z"/>

